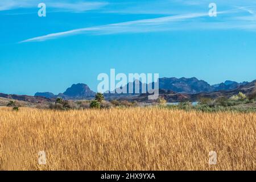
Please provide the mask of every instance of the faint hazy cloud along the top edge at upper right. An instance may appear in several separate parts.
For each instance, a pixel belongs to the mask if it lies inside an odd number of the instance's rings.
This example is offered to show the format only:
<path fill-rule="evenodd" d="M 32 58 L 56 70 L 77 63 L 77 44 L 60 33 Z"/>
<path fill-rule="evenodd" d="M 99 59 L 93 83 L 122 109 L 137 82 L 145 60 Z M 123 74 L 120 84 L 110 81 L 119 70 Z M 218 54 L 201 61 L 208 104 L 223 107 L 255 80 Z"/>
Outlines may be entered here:
<path fill-rule="evenodd" d="M 256 1 L 254 0 L 140 0 L 129 1 L 129 3 L 118 3 L 118 5 L 116 1 L 114 1 L 110 3 L 109 8 L 103 11 L 105 13 L 119 14 L 188 14 L 191 13 L 191 11 L 200 11 L 203 9 L 207 11 L 210 3 L 216 3 L 220 10 L 234 9 L 236 6 L 256 6 Z M 123 4 L 123 6 L 119 6 L 119 4 Z"/>

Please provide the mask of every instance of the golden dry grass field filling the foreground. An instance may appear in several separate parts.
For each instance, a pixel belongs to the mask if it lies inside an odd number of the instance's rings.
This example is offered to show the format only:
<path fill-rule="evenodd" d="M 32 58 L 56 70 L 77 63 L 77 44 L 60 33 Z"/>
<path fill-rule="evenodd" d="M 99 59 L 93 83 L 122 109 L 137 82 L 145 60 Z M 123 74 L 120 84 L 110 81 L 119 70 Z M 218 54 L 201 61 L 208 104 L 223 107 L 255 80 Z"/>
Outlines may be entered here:
<path fill-rule="evenodd" d="M 255 113 L 2 107 L 0 170 L 255 170 L 255 123 Z"/>

